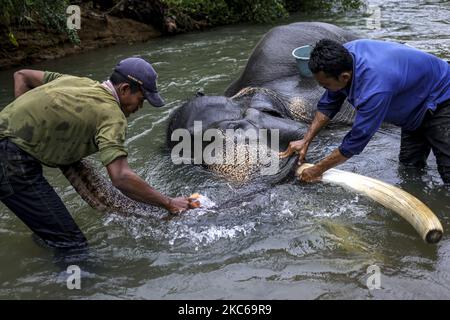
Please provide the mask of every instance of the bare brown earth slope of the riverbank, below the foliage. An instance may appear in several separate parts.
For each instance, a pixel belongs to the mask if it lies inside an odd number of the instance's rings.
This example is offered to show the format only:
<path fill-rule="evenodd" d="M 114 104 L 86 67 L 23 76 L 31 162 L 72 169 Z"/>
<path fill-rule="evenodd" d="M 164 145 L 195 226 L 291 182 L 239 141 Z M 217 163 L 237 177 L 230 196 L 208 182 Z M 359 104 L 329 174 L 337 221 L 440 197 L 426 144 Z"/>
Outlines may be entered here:
<path fill-rule="evenodd" d="M 17 46 L 8 34 L 0 34 L 0 69 L 61 58 L 119 43 L 133 44 L 161 36 L 152 25 L 127 18 L 118 18 L 92 8 L 81 9 L 79 44 L 72 43 L 67 34 L 51 30 L 43 24 L 12 26 Z"/>

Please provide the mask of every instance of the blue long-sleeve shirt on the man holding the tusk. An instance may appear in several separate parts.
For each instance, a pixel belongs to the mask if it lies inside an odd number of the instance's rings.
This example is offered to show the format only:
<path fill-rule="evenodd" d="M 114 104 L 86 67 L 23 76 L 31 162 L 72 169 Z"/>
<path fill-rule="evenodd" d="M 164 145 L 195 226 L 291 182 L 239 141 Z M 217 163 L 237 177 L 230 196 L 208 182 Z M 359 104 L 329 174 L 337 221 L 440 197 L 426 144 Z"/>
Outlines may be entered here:
<path fill-rule="evenodd" d="M 366 39 L 344 47 L 353 57 L 351 85 L 327 90 L 317 109 L 333 118 L 346 98 L 356 108 L 352 129 L 339 147 L 347 158 L 361 153 L 383 121 L 415 130 L 428 109 L 450 99 L 450 65 L 434 55 Z"/>

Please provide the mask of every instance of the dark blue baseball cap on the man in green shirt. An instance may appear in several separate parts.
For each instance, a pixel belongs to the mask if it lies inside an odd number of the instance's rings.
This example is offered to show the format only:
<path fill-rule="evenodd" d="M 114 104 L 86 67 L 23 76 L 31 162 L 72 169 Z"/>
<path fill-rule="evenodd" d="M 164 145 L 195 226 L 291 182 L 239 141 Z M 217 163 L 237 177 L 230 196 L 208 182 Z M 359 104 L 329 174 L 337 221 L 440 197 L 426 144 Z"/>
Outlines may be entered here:
<path fill-rule="evenodd" d="M 120 61 L 114 71 L 140 84 L 145 99 L 152 106 L 162 107 L 164 105 L 164 100 L 156 88 L 158 74 L 150 63 L 141 58 L 127 58 Z"/>

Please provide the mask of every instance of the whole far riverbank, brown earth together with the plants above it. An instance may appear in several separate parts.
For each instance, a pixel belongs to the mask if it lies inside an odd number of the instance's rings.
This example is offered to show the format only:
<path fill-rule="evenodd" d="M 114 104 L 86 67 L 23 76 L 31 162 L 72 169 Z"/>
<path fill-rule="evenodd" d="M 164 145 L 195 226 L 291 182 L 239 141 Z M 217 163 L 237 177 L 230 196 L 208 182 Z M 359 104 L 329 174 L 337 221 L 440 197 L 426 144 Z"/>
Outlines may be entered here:
<path fill-rule="evenodd" d="M 6 23 L 0 21 L 0 70 L 114 44 L 145 42 L 160 36 L 204 30 L 219 25 L 274 21 L 301 8 L 299 2 L 292 0 L 258 0 L 255 3 L 245 0 L 236 3 L 225 0 L 186 0 L 181 1 L 181 5 L 177 4 L 179 1 L 173 0 L 70 1 L 71 4 L 78 5 L 81 11 L 81 28 L 75 36 L 79 41 L 73 41 L 73 38 L 70 39 L 70 33 L 64 32 L 69 15 L 65 16 L 63 11 L 68 2 L 59 1 L 61 8 L 58 10 L 61 12 L 58 13 L 53 12 L 55 9 L 45 2 L 39 1 L 10 1 L 15 5 L 9 8 L 12 11 L 11 17 L 8 16 L 8 8 L 0 14 L 1 20 L 10 20 Z M 346 1 L 358 0 L 335 2 Z M 302 4 L 309 2 L 301 1 Z M 315 2 L 317 8 L 326 6 L 317 5 L 319 2 Z M 19 7 L 20 4 L 28 5 L 26 3 L 34 3 L 34 7 L 24 13 Z M 48 7 L 44 8 L 45 10 L 36 9 L 42 6 Z M 25 7 L 25 11 L 26 9 Z M 42 11 L 41 15 L 39 11 Z M 50 18 L 47 17 L 46 23 L 43 16 L 49 12 Z M 54 16 L 59 21 L 48 23 L 49 19 L 57 20 Z M 56 27 L 51 27 L 52 25 Z M 72 33 L 72 36 L 73 34 L 75 33 Z"/>

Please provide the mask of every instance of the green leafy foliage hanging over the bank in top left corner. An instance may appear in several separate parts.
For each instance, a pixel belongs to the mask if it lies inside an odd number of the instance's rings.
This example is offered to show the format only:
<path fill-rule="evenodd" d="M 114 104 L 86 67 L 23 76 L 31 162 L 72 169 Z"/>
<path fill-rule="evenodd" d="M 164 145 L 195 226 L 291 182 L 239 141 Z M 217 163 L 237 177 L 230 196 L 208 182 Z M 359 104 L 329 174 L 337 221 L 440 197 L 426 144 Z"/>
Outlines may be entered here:
<path fill-rule="evenodd" d="M 66 33 L 73 43 L 79 43 L 76 30 L 67 28 L 68 0 L 0 0 L 0 26 L 8 30 L 8 37 L 15 46 L 17 41 L 11 25 L 30 25 L 40 22 L 57 32 Z"/>

